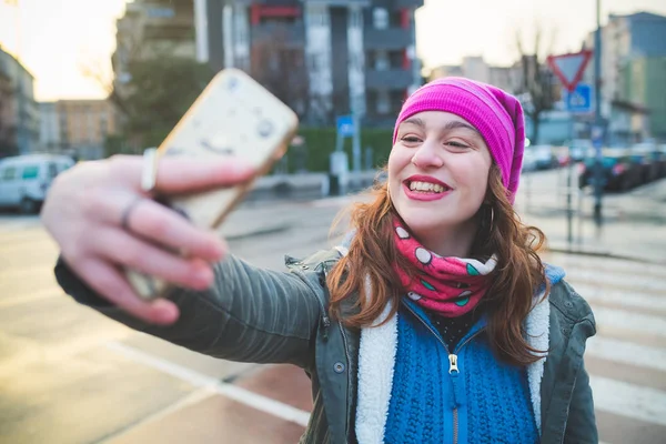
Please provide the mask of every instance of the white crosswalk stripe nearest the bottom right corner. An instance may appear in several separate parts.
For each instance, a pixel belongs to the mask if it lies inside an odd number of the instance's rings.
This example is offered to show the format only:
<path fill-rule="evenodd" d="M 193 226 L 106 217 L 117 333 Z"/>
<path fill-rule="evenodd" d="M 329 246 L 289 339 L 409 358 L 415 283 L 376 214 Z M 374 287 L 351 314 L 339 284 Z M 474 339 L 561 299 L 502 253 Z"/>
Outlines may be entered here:
<path fill-rule="evenodd" d="M 589 376 L 595 408 L 666 426 L 666 392 L 603 376 Z"/>

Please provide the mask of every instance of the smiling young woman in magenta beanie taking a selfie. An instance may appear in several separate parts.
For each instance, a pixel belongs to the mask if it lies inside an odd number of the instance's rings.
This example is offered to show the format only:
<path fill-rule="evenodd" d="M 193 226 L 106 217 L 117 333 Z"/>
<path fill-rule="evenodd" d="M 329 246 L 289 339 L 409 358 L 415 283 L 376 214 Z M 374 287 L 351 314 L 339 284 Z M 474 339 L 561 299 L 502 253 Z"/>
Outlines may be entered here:
<path fill-rule="evenodd" d="M 164 159 L 148 192 L 140 159 L 80 165 L 42 219 L 77 301 L 212 356 L 303 367 L 304 443 L 596 443 L 594 316 L 514 211 L 523 142 L 514 97 L 457 78 L 422 87 L 345 242 L 284 273 L 222 260 L 212 233 L 145 199 L 242 181 L 239 164 Z M 142 302 L 121 265 L 179 287 Z"/>

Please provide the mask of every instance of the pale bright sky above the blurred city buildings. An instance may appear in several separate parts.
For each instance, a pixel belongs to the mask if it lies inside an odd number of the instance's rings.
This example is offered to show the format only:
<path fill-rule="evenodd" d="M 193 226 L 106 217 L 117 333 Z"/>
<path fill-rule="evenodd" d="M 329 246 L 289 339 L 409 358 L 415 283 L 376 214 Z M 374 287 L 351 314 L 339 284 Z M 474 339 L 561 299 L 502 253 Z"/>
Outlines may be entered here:
<path fill-rule="evenodd" d="M 110 70 L 115 19 L 122 14 L 124 0 L 19 0 L 18 10 L 4 1 L 0 0 L 0 44 L 12 53 L 20 48 L 21 60 L 37 79 L 38 100 L 104 95 L 83 77 L 81 67 Z M 602 2 L 604 21 L 608 12 L 640 10 L 666 14 L 666 1 Z M 555 42 L 555 52 L 579 49 L 595 27 L 595 2 L 426 0 L 416 20 L 417 51 L 426 67 L 460 63 L 464 56 L 509 64 L 516 58 L 516 32 L 531 43 L 537 23 Z"/>

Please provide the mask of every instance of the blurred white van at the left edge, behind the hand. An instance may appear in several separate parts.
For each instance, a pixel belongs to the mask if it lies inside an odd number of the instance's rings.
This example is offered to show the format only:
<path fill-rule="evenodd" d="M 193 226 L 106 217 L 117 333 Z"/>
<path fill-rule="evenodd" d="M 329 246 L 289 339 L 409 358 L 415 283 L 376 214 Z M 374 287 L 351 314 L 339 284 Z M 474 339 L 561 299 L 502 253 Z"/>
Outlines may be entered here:
<path fill-rule="evenodd" d="M 34 214 L 53 179 L 74 164 L 68 155 L 27 154 L 0 159 L 0 208 Z"/>

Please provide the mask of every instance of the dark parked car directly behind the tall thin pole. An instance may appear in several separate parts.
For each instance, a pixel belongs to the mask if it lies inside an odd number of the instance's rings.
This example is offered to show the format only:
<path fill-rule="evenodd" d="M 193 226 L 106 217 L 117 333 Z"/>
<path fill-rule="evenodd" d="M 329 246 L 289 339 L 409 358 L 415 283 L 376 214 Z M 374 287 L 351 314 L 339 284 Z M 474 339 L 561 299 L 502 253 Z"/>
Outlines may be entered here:
<path fill-rule="evenodd" d="M 594 185 L 595 159 L 581 163 L 579 188 Z M 643 167 L 632 157 L 630 150 L 606 148 L 602 151 L 603 185 L 607 191 L 627 191 L 643 183 Z"/>

